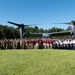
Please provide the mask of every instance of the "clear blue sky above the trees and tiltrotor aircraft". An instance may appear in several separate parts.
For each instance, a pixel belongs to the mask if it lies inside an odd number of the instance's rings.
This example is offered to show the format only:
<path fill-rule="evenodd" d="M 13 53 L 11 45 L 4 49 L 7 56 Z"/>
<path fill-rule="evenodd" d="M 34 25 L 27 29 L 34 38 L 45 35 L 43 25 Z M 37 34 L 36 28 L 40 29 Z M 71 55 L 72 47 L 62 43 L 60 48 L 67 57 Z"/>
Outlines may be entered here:
<path fill-rule="evenodd" d="M 8 21 L 24 24 L 42 24 L 39 28 L 58 27 L 75 20 L 75 0 L 0 0 L 0 24 L 12 26 Z"/>

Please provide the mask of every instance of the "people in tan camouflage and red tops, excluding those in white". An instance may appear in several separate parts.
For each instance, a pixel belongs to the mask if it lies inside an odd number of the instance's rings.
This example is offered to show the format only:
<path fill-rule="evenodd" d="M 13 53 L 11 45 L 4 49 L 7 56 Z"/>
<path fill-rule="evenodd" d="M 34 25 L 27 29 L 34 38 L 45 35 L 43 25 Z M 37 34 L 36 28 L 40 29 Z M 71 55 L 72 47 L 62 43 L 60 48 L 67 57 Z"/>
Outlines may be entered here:
<path fill-rule="evenodd" d="M 0 39 L 0 49 L 49 49 L 52 48 L 54 39 Z"/>

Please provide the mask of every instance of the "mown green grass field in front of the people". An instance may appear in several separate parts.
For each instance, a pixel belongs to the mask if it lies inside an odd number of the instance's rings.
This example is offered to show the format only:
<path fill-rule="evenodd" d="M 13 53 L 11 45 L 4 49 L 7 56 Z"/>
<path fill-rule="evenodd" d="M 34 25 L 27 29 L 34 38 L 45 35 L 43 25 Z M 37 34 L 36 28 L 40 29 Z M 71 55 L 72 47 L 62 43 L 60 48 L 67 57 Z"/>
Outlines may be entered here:
<path fill-rule="evenodd" d="M 75 75 L 75 51 L 0 50 L 0 75 Z"/>

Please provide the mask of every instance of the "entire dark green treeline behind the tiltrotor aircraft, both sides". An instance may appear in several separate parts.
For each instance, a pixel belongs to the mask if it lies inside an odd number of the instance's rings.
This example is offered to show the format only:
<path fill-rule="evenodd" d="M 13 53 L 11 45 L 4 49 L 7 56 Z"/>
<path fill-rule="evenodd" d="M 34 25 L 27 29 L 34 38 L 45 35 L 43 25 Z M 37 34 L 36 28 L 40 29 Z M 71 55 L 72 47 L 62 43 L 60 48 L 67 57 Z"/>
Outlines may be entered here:
<path fill-rule="evenodd" d="M 69 30 L 69 29 L 70 29 L 70 27 L 68 27 L 66 30 Z M 60 31 L 65 31 L 65 30 L 62 28 L 57 28 L 57 27 L 53 27 L 51 29 L 43 29 L 43 28 L 38 28 L 37 26 L 27 27 L 25 29 L 25 32 L 32 32 L 32 33 L 34 33 L 34 32 L 36 32 L 36 33 L 51 33 L 51 32 L 60 32 Z M 7 38 L 7 39 L 20 38 L 19 28 L 0 25 L 0 39 L 2 39 L 2 38 Z"/>

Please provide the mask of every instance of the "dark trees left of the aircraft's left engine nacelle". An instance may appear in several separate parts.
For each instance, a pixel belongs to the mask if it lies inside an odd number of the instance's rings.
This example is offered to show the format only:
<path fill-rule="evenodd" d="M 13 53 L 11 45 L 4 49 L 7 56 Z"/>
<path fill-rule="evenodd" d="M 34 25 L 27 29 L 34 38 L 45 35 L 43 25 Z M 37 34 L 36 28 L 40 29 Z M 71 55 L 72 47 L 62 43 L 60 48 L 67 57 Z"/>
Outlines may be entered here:
<path fill-rule="evenodd" d="M 19 38 L 19 30 L 9 26 L 0 25 L 0 39 L 7 38 L 7 39 L 14 39 Z"/>

